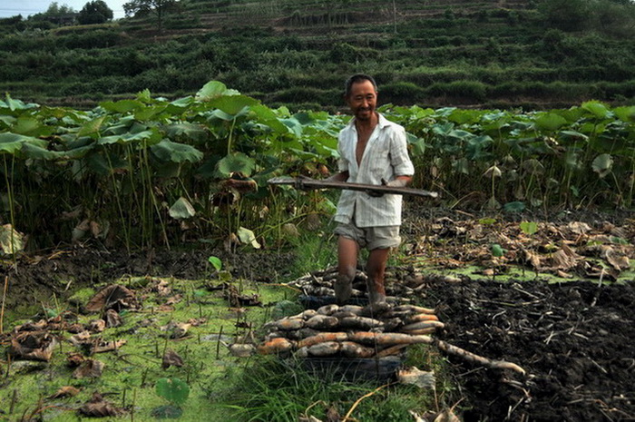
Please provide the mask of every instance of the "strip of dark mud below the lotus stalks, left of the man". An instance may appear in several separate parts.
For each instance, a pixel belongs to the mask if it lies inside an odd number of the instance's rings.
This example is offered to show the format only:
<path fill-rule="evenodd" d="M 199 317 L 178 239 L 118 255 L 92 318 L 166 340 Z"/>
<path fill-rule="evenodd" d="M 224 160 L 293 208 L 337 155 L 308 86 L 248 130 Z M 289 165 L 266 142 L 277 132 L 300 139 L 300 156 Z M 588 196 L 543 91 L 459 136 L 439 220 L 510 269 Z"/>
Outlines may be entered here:
<path fill-rule="evenodd" d="M 15 265 L 5 261 L 0 279 L 7 280 L 6 309 L 24 304 L 63 300 L 77 290 L 122 277 L 161 276 L 198 280 L 209 276 L 210 256 L 220 258 L 223 270 L 241 279 L 272 282 L 285 276 L 293 254 L 263 251 L 231 253 L 224 250 L 125 250 L 71 248 L 22 256 Z"/>

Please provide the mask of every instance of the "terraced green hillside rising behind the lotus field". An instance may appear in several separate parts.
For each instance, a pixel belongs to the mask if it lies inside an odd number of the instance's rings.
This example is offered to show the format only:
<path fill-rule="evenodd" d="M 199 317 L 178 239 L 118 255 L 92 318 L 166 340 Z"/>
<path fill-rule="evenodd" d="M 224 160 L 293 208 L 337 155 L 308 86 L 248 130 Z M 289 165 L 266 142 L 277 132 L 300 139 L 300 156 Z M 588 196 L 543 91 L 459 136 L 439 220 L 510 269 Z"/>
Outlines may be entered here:
<path fill-rule="evenodd" d="M 9 34 L 0 40 L 0 89 L 90 106 L 145 88 L 182 95 L 218 79 L 272 105 L 317 108 L 336 107 L 342 81 L 364 71 L 393 103 L 532 106 L 635 96 L 635 47 L 597 34 L 545 38 L 533 2 L 395 5 L 192 0 L 161 33 L 147 17 Z"/>

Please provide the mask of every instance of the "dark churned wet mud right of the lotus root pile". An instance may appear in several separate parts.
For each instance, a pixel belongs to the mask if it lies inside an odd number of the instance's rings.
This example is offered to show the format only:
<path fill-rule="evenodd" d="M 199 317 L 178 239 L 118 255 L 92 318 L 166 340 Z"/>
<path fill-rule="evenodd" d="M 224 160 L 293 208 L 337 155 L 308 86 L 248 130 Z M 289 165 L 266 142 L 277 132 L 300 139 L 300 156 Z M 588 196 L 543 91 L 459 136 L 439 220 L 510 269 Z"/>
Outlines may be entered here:
<path fill-rule="evenodd" d="M 432 283 L 446 341 L 527 376 L 448 358 L 465 421 L 635 420 L 635 290 L 591 282 Z"/>

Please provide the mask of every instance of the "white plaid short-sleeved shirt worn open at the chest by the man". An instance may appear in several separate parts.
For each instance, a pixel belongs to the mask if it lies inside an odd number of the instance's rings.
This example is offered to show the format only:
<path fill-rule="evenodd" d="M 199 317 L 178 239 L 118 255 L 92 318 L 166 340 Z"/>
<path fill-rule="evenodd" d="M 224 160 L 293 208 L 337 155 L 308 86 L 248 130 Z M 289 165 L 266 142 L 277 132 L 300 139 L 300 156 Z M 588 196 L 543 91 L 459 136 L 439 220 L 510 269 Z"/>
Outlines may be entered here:
<path fill-rule="evenodd" d="M 408 157 L 404 127 L 389 122 L 381 114 L 359 166 L 356 146 L 357 129 L 352 119 L 339 132 L 337 142 L 339 171 L 348 172 L 347 182 L 381 184 L 382 179 L 390 182 L 396 176 L 415 174 L 415 166 Z M 401 225 L 401 202 L 402 195 L 385 194 L 374 198 L 363 191 L 344 190 L 337 203 L 335 221 L 353 221 L 357 227 L 398 226 Z"/>

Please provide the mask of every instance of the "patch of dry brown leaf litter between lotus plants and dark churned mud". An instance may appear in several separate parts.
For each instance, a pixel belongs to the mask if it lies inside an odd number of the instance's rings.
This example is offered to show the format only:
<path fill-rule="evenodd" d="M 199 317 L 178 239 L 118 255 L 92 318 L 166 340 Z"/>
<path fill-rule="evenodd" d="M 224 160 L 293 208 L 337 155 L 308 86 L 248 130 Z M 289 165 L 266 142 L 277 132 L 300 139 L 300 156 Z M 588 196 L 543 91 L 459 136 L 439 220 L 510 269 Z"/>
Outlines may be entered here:
<path fill-rule="evenodd" d="M 601 221 L 593 227 L 581 221 L 533 224 L 534 232 L 523 231 L 522 222 L 438 218 L 412 242 L 408 254 L 413 261 L 421 258 L 448 269 L 478 265 L 503 273 L 518 265 L 562 278 L 596 280 L 617 280 L 635 259 L 633 221 Z M 494 244 L 500 245 L 502 256 L 493 256 Z"/>

